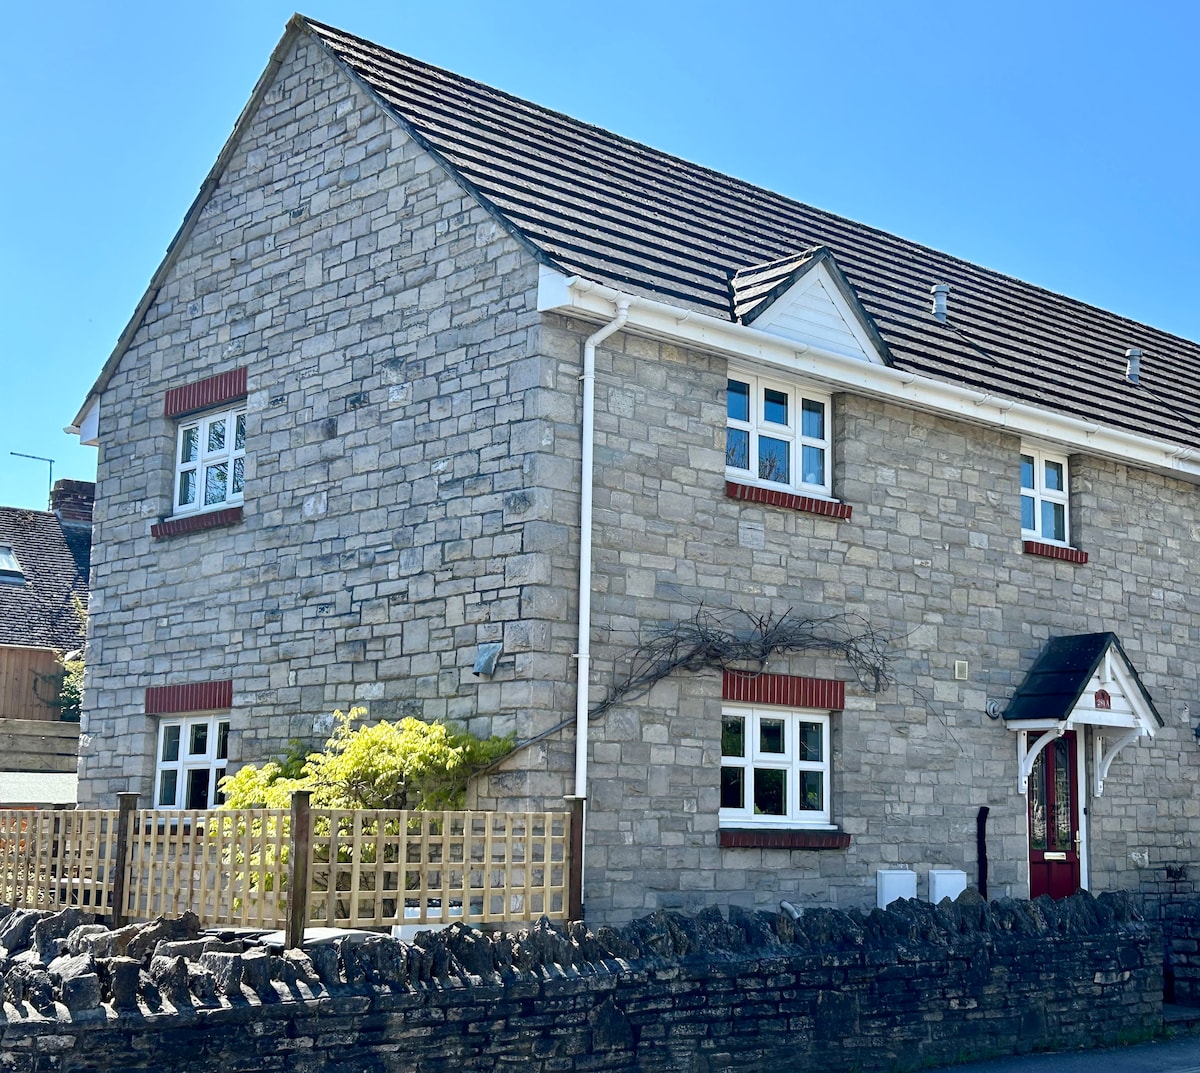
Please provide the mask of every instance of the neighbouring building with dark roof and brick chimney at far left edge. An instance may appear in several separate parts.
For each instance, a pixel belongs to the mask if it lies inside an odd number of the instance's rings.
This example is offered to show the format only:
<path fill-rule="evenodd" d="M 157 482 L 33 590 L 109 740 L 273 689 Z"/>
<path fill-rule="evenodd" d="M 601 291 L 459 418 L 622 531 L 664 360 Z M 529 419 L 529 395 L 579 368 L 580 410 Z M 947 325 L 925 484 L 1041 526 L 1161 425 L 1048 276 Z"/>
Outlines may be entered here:
<path fill-rule="evenodd" d="M 84 646 L 94 493 L 59 480 L 49 510 L 0 506 L 0 805 L 74 804 L 60 660 Z"/>

